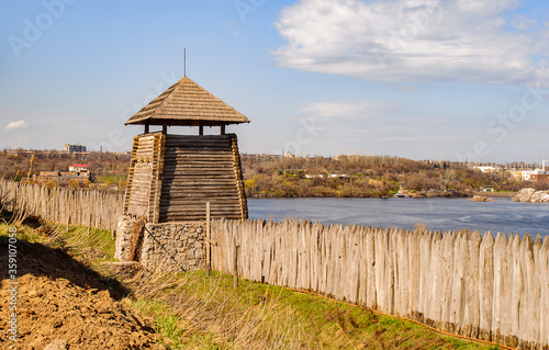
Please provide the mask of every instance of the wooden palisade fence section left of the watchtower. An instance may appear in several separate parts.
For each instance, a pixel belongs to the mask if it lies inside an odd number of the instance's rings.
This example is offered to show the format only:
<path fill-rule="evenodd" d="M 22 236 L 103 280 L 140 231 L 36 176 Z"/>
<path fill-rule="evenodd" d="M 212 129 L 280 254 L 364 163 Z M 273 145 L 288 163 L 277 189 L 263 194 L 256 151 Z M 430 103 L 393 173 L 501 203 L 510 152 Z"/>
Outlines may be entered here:
<path fill-rule="evenodd" d="M 0 201 L 9 211 L 24 212 L 49 222 L 115 232 L 124 195 L 0 180 Z"/>

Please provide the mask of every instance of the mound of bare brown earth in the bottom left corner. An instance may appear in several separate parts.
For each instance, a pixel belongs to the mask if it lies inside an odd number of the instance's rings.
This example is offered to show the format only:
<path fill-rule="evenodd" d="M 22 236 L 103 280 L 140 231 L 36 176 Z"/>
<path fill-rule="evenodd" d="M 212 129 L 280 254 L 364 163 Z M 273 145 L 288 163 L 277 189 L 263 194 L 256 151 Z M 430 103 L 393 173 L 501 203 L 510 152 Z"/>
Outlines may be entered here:
<path fill-rule="evenodd" d="M 19 335 L 13 342 L 7 331 L 11 285 L 2 273 L 2 349 L 165 349 L 146 321 L 113 298 L 86 266 L 59 249 L 25 241 L 16 246 Z M 3 240 L 0 266 L 7 267 L 7 260 Z"/>

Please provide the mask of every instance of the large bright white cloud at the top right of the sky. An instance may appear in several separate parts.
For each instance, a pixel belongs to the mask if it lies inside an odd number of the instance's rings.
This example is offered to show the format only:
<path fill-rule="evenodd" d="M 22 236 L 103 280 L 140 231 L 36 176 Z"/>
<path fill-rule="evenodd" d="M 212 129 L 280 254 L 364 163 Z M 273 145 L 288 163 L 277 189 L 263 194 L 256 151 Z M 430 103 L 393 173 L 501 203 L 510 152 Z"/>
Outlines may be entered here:
<path fill-rule="evenodd" d="M 300 70 L 381 81 L 531 82 L 549 77 L 546 23 L 520 0 L 301 0 L 273 52 Z M 536 59 L 533 59 L 536 57 Z"/>

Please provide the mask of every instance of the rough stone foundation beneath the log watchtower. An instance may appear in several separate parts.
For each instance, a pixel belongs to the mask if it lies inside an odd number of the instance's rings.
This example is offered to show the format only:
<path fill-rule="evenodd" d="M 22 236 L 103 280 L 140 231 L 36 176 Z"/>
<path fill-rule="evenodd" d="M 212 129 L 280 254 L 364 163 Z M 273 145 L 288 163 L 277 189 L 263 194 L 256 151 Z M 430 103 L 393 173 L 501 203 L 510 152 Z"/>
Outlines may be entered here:
<path fill-rule="evenodd" d="M 142 224 L 122 216 L 116 233 L 120 261 L 138 261 L 149 271 L 204 269 L 202 222 Z"/>

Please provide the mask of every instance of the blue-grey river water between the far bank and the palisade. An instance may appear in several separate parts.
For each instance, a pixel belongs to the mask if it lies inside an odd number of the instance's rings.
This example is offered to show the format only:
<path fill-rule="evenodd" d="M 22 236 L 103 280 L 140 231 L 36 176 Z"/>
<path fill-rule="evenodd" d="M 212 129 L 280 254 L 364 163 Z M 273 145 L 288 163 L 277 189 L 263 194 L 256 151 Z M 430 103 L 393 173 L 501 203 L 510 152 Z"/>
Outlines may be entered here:
<path fill-rule="evenodd" d="M 494 202 L 467 199 L 248 199 L 249 218 L 284 217 L 323 224 L 356 224 L 413 229 L 425 224 L 433 230 L 479 230 L 481 235 L 528 233 L 533 238 L 549 235 L 549 204 L 516 203 L 496 197 Z"/>

